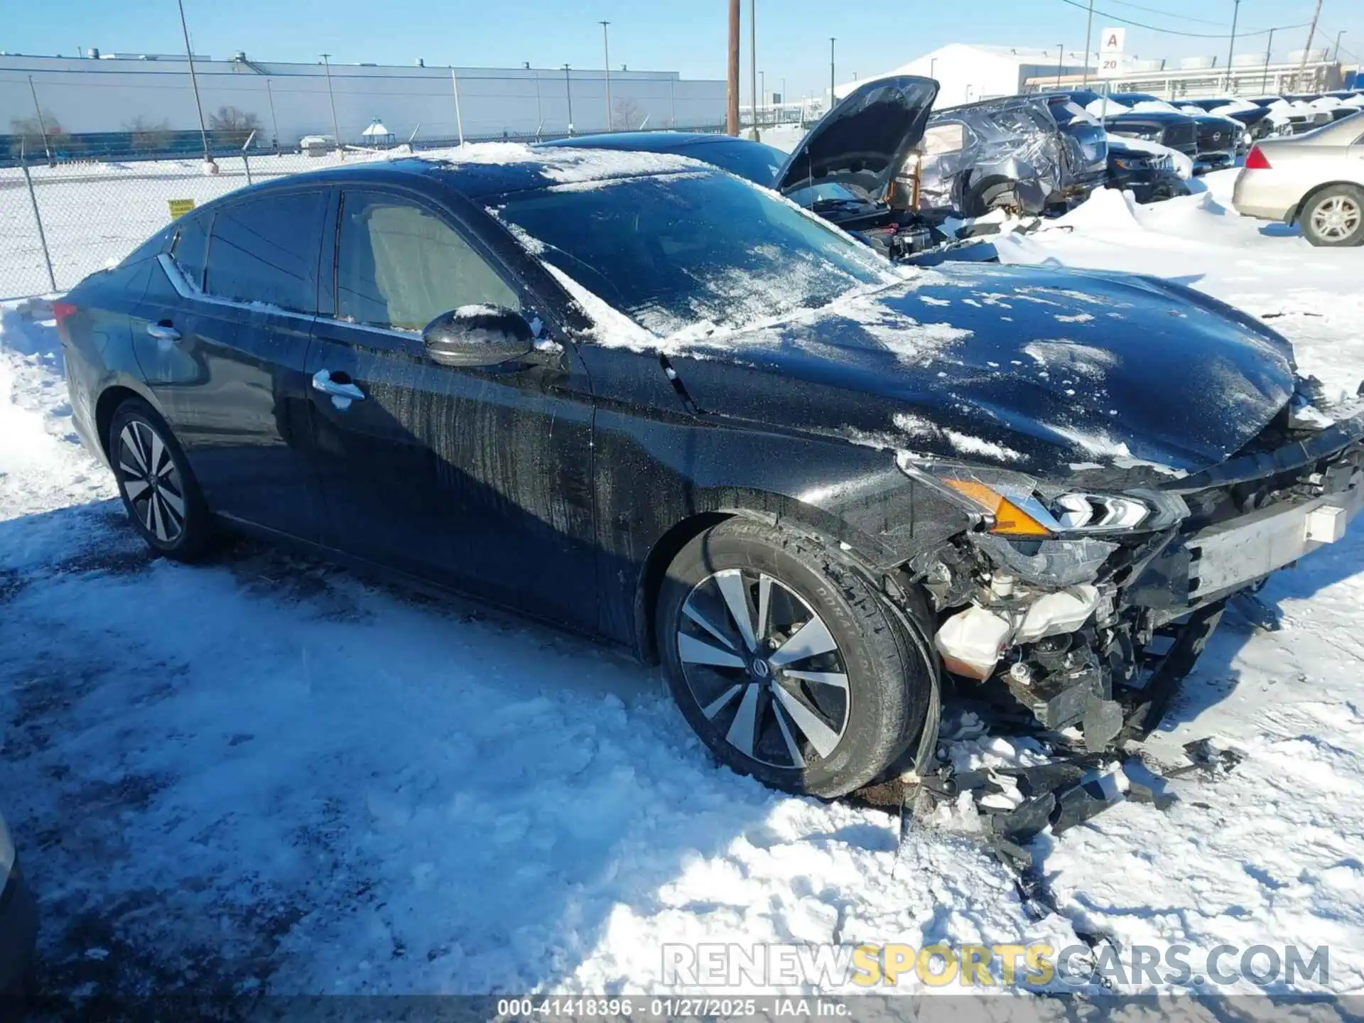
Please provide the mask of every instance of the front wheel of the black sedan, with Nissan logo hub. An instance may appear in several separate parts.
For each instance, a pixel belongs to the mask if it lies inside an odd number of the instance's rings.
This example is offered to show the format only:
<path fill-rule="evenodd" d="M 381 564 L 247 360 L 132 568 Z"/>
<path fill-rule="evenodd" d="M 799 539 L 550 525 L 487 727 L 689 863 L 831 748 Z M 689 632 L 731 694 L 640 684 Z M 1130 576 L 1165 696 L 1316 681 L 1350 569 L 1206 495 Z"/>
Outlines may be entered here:
<path fill-rule="evenodd" d="M 932 667 L 884 597 L 814 540 L 742 518 L 668 567 L 655 622 L 672 696 L 730 768 L 846 795 L 919 731 Z"/>

